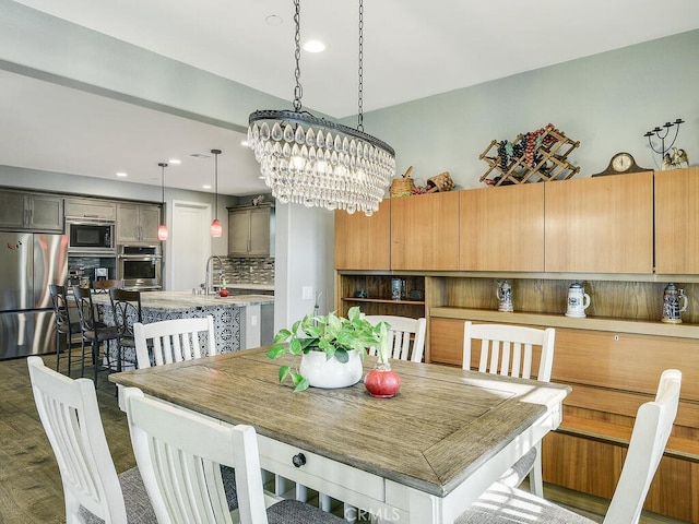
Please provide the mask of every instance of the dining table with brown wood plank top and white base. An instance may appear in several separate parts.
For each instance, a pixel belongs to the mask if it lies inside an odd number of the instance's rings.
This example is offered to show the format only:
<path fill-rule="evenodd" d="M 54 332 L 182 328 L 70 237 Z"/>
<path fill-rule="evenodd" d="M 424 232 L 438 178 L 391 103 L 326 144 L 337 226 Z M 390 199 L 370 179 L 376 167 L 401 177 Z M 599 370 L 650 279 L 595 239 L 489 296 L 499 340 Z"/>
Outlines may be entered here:
<path fill-rule="evenodd" d="M 561 421 L 570 386 L 434 364 L 391 360 L 401 388 L 364 383 L 294 392 L 266 348 L 109 376 L 221 424 L 258 434 L 265 472 L 342 501 L 347 520 L 449 523 Z M 376 366 L 364 360 L 365 372 Z M 298 497 L 297 497 L 298 498 Z"/>

